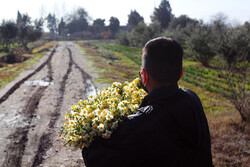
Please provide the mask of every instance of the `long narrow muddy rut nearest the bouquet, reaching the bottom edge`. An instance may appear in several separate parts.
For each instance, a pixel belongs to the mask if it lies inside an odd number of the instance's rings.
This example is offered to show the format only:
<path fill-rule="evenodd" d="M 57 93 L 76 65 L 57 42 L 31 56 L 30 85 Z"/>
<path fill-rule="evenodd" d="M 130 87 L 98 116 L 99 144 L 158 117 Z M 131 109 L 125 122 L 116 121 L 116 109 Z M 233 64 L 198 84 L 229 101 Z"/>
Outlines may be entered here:
<path fill-rule="evenodd" d="M 40 142 L 39 142 L 40 144 L 38 146 L 37 153 L 36 153 L 36 155 L 34 157 L 32 167 L 39 166 L 40 164 L 42 164 L 42 162 L 44 160 L 43 156 L 46 155 L 47 150 L 49 150 L 49 148 L 51 148 L 52 145 L 53 145 L 52 139 L 51 139 L 51 136 L 54 133 L 53 128 L 55 126 L 55 123 L 56 123 L 57 119 L 59 118 L 59 116 L 61 114 L 60 111 L 61 111 L 62 102 L 63 102 L 63 99 L 64 99 L 66 81 L 67 81 L 67 79 L 69 77 L 69 74 L 72 71 L 72 66 L 73 66 L 72 52 L 71 52 L 71 50 L 69 48 L 67 48 L 67 50 L 69 52 L 69 58 L 70 58 L 69 66 L 68 66 L 66 74 L 63 76 L 63 81 L 60 84 L 60 88 L 59 88 L 60 94 L 59 94 L 59 97 L 57 98 L 55 112 L 52 113 L 50 122 L 48 124 L 48 127 L 49 127 L 50 130 L 47 133 L 43 133 L 43 135 L 40 138 Z"/>

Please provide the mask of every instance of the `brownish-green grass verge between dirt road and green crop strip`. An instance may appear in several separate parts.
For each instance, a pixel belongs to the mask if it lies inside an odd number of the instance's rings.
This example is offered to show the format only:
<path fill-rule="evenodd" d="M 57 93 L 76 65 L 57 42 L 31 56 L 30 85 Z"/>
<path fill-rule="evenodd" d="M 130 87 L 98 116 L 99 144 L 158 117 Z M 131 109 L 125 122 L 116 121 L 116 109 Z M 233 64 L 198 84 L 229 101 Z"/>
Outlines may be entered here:
<path fill-rule="evenodd" d="M 98 41 L 76 43 L 81 46 L 92 62 L 91 64 L 96 68 L 99 74 L 97 82 L 111 84 L 114 81 L 131 81 L 137 77 L 140 66 L 124 54 L 109 50 L 108 45 Z"/>

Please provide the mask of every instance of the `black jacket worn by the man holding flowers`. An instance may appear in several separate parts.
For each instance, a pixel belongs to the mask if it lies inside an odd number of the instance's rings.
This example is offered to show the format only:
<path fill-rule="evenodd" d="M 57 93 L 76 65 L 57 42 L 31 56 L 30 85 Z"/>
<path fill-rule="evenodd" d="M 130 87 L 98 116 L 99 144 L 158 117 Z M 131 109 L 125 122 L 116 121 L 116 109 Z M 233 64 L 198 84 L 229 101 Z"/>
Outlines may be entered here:
<path fill-rule="evenodd" d="M 207 119 L 198 96 L 178 85 L 145 96 L 109 139 L 82 151 L 87 167 L 211 167 Z"/>

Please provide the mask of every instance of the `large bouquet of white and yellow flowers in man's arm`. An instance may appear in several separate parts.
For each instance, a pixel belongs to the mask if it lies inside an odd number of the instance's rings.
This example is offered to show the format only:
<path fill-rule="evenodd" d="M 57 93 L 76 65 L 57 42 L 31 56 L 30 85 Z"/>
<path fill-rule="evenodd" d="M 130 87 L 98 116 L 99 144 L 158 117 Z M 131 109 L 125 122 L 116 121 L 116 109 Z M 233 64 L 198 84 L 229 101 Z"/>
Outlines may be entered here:
<path fill-rule="evenodd" d="M 82 149 L 96 136 L 109 138 L 119 122 L 136 112 L 145 95 L 137 78 L 130 83 L 114 82 L 95 97 L 90 95 L 88 100 L 80 100 L 65 114 L 66 123 L 59 135 L 65 141 L 64 146 Z"/>

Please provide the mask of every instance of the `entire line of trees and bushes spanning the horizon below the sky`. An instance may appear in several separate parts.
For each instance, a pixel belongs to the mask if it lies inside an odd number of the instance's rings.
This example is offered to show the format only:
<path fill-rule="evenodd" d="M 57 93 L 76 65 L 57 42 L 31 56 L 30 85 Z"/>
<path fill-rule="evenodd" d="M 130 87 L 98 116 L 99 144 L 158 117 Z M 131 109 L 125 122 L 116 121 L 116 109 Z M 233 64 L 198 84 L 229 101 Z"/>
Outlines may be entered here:
<path fill-rule="evenodd" d="M 44 33 L 44 24 L 49 33 Z M 248 22 L 231 26 L 223 14 L 216 15 L 210 23 L 187 15 L 175 17 L 168 0 L 162 0 L 154 9 L 150 24 L 146 24 L 136 10 L 131 10 L 126 26 L 120 26 L 119 19 L 114 16 L 110 17 L 109 25 L 105 25 L 105 19 L 101 18 L 91 22 L 84 8 L 78 8 L 63 18 L 49 13 L 33 22 L 28 14 L 18 11 L 16 21 L 2 21 L 0 46 L 8 49 L 11 43 L 18 43 L 27 50 L 29 42 L 43 37 L 49 40 L 117 39 L 122 45 L 142 47 L 149 39 L 168 36 L 179 41 L 187 54 L 193 55 L 204 66 L 209 66 L 215 55 L 225 57 L 231 65 L 236 58 L 249 60 L 249 26 Z"/>

